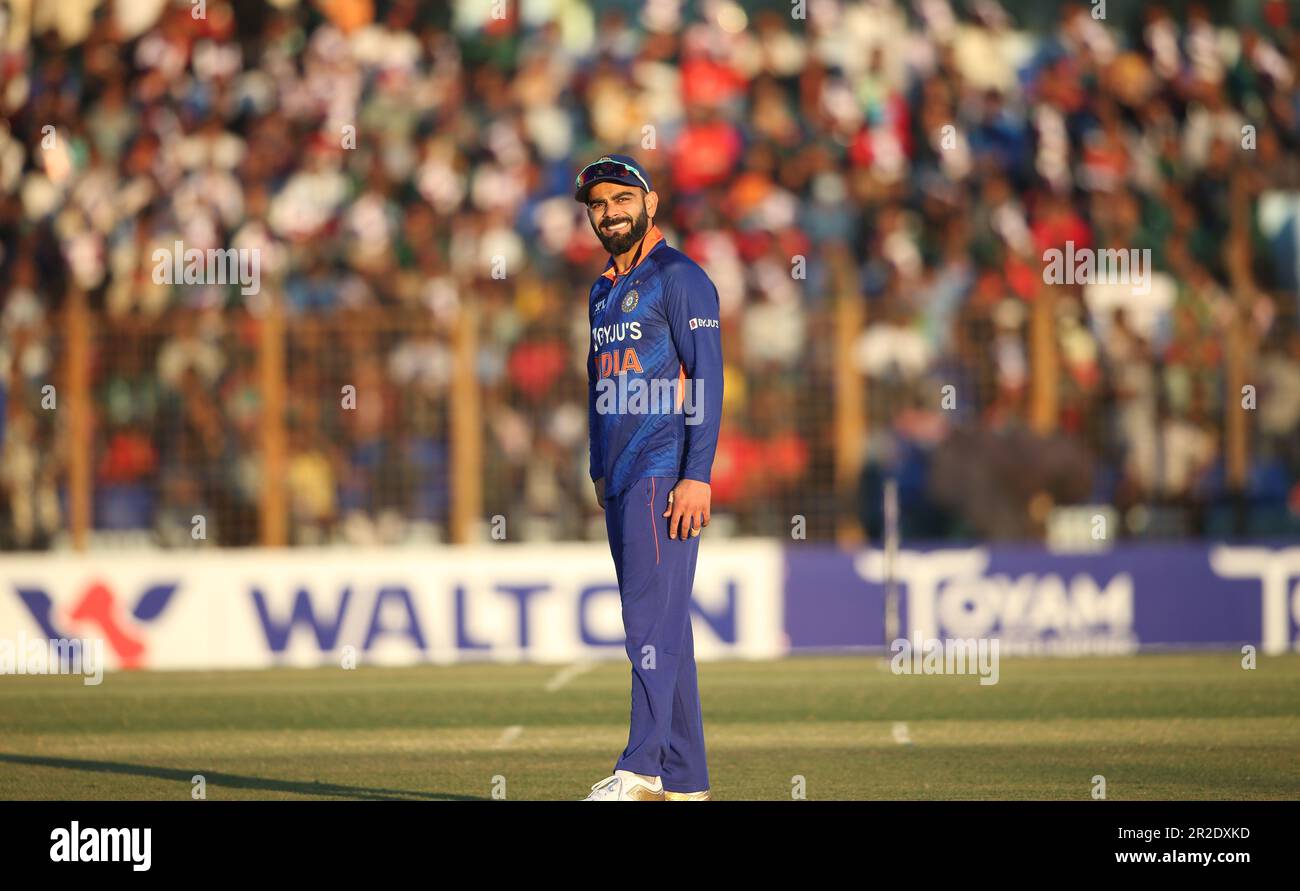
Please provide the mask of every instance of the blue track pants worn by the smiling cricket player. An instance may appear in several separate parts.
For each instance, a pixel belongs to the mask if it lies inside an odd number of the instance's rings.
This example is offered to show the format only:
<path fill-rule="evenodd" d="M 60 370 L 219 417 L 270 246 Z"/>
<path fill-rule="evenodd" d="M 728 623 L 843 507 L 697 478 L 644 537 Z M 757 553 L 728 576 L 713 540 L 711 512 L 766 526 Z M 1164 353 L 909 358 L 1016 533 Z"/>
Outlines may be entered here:
<path fill-rule="evenodd" d="M 676 484 L 646 477 L 604 503 L 632 659 L 632 726 L 615 769 L 663 777 L 670 792 L 698 792 L 708 788 L 708 767 L 688 606 L 699 537 L 668 537 L 663 512 Z"/>

